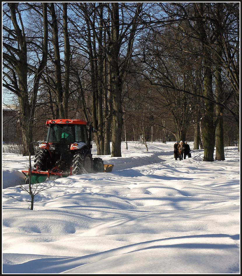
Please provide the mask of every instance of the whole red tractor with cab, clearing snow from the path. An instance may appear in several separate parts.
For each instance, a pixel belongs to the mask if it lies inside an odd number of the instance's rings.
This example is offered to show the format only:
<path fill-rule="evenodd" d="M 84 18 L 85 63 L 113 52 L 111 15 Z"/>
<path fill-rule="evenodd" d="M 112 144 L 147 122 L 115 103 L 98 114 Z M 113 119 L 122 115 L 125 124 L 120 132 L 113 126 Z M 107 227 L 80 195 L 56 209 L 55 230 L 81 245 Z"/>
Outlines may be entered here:
<path fill-rule="evenodd" d="M 31 183 L 55 180 L 83 173 L 110 172 L 113 165 L 104 164 L 99 157 L 92 158 L 92 125 L 78 119 L 48 120 L 47 139 L 39 145 L 31 169 Z M 23 170 L 28 183 L 30 170 Z"/>

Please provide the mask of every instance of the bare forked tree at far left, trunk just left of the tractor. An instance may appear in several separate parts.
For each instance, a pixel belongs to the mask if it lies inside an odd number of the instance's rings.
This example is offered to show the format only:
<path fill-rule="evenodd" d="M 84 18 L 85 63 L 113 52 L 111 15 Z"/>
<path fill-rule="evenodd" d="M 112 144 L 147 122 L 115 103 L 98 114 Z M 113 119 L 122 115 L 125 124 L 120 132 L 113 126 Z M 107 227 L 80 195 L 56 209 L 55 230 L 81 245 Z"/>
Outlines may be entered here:
<path fill-rule="evenodd" d="M 8 8 L 7 8 L 8 6 Z M 22 10 L 21 10 L 22 9 Z M 30 8 L 31 9 L 31 8 Z M 18 97 L 20 124 L 22 126 L 23 155 L 34 153 L 33 121 L 36 98 L 41 75 L 47 62 L 48 21 L 47 4 L 42 4 L 43 37 L 29 37 L 29 29 L 22 20 L 26 6 L 19 3 L 6 3 L 3 9 L 3 87 Z M 27 8 L 27 11 L 29 8 Z M 19 25 L 20 24 L 20 25 Z M 27 29 L 27 33 L 26 33 Z M 29 46 L 38 48 L 32 63 Z M 36 51 L 37 52 L 37 51 Z M 40 59 L 40 55 L 42 58 Z M 32 64 L 31 64 L 32 63 Z"/>

